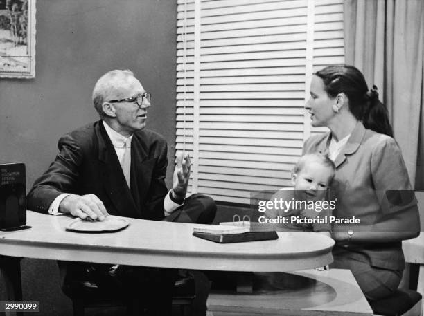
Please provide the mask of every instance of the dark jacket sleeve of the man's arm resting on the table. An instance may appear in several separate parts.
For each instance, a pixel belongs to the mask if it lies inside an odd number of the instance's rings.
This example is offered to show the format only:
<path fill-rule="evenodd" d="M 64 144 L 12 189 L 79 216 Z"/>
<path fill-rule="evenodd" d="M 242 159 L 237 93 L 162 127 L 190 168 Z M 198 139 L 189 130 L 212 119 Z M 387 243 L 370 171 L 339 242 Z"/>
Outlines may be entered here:
<path fill-rule="evenodd" d="M 82 151 L 70 134 L 60 138 L 58 147 L 60 152 L 55 161 L 35 180 L 33 188 L 28 193 L 28 210 L 47 213 L 48 207 L 57 196 L 75 191 Z"/>

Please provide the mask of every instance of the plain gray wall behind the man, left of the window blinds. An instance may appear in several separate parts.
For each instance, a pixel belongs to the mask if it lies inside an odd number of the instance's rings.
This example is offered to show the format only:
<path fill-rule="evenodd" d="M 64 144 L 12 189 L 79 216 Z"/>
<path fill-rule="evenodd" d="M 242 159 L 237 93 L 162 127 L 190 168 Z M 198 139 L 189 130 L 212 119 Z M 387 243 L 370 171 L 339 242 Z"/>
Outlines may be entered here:
<path fill-rule="evenodd" d="M 173 157 L 176 2 L 37 1 L 36 77 L 0 80 L 0 162 L 25 162 L 27 191 L 57 154 L 58 138 L 98 119 L 91 91 L 114 68 L 130 68 L 152 93 L 148 128 L 165 136 Z M 41 301 L 39 315 L 71 315 L 55 262 L 21 265 L 24 300 Z"/>

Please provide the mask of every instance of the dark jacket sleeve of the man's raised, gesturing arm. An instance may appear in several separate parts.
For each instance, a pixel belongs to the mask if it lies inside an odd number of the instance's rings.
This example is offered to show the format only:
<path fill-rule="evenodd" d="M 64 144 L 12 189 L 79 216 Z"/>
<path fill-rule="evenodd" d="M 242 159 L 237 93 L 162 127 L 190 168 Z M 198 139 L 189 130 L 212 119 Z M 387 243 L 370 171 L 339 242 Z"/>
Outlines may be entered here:
<path fill-rule="evenodd" d="M 165 184 L 166 167 L 168 166 L 168 147 L 166 141 L 159 142 L 159 156 L 154 165 L 148 200 L 146 203 L 146 214 L 148 219 L 164 219 L 164 198 L 168 194 L 168 188 Z"/>

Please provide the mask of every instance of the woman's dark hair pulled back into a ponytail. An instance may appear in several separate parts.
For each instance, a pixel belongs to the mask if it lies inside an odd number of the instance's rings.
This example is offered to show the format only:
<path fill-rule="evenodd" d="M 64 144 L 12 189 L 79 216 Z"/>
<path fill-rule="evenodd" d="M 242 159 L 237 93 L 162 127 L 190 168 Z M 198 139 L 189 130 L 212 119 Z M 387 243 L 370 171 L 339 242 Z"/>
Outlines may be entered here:
<path fill-rule="evenodd" d="M 349 100 L 351 113 L 360 120 L 366 129 L 393 137 L 387 109 L 378 100 L 377 87 L 368 90 L 364 75 L 354 66 L 327 66 L 315 73 L 324 81 L 324 89 L 330 97 L 344 93 Z"/>

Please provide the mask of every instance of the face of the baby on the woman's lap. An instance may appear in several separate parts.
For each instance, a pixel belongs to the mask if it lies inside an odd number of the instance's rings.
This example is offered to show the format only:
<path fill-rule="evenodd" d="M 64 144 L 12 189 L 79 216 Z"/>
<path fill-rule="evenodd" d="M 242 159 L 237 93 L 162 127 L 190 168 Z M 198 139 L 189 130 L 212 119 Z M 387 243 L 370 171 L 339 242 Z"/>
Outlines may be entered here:
<path fill-rule="evenodd" d="M 303 201 L 320 201 L 326 196 L 330 185 L 331 169 L 318 162 L 310 162 L 292 174 L 294 194 Z"/>

